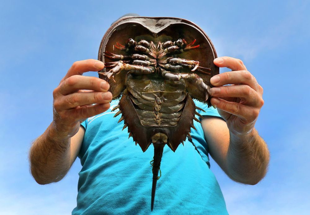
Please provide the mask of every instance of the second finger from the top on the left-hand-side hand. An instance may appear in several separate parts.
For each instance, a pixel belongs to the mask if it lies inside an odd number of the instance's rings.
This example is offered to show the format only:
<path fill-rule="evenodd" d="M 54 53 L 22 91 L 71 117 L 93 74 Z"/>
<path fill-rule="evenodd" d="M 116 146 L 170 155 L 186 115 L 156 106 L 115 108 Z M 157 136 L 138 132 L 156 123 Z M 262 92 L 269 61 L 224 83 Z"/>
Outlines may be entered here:
<path fill-rule="evenodd" d="M 59 93 L 68 95 L 80 89 L 94 91 L 108 91 L 110 85 L 105 80 L 97 77 L 73 75 L 64 80 L 59 86 Z"/>

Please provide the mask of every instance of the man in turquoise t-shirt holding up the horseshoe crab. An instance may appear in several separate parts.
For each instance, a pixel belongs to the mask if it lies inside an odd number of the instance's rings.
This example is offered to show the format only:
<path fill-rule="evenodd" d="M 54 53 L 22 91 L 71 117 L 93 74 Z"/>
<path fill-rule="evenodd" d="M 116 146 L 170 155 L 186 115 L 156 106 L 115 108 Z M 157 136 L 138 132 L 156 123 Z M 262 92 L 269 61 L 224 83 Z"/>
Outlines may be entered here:
<path fill-rule="evenodd" d="M 214 63 L 232 71 L 211 78 L 211 103 L 218 112 L 195 101 L 206 110 L 201 126 L 192 130 L 201 156 L 188 141 L 175 153 L 165 146 L 152 214 L 227 214 L 209 153 L 236 182 L 254 185 L 266 174 L 268 148 L 254 127 L 263 88 L 241 60 L 220 57 Z M 74 62 L 55 88 L 53 122 L 30 149 L 31 173 L 39 184 L 58 182 L 79 157 L 73 214 L 148 214 L 153 150 L 142 153 L 121 131 L 110 114 L 109 84 L 82 76 L 103 68 L 94 59 Z"/>

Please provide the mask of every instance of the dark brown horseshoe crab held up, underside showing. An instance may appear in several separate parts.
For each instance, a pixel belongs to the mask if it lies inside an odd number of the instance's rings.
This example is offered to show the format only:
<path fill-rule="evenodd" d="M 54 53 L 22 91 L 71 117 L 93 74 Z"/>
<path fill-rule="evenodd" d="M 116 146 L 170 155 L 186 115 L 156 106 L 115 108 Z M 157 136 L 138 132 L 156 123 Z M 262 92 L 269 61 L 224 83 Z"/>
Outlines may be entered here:
<path fill-rule="evenodd" d="M 113 109 L 119 109 L 115 116 L 122 114 L 118 122 L 124 121 L 123 129 L 128 127 L 143 152 L 154 146 L 151 210 L 164 146 L 175 152 L 186 138 L 193 144 L 193 120 L 202 118 L 193 98 L 210 106 L 210 78 L 219 74 L 216 57 L 206 33 L 179 18 L 124 17 L 100 43 L 98 60 L 105 68 L 98 73 L 109 82 L 113 99 L 120 98 Z"/>

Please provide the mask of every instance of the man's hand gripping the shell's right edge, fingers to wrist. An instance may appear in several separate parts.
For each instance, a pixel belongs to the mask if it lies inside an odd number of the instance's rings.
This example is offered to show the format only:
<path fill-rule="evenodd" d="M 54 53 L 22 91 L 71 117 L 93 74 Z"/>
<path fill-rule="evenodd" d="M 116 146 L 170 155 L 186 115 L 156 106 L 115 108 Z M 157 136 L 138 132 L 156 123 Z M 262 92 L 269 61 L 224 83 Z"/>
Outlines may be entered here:
<path fill-rule="evenodd" d="M 239 59 L 221 57 L 216 58 L 214 64 L 232 71 L 211 78 L 210 82 L 215 86 L 210 90 L 211 103 L 219 109 L 232 134 L 249 134 L 264 104 L 263 88 Z M 231 85 L 224 86 L 226 84 Z"/>

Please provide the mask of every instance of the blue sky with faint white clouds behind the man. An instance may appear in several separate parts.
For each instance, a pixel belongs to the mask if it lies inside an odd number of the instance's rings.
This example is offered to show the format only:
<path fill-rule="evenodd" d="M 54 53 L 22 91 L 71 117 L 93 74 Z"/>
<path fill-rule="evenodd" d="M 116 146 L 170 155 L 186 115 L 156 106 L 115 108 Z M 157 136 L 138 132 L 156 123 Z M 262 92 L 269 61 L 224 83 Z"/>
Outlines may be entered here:
<path fill-rule="evenodd" d="M 218 56 L 242 59 L 264 88 L 256 128 L 271 153 L 267 176 L 238 184 L 211 161 L 228 212 L 309 214 L 309 11 L 309 1 L 1 0 L 0 214 L 76 206 L 79 159 L 62 181 L 42 186 L 29 173 L 28 150 L 51 123 L 53 89 L 74 61 L 97 58 L 104 33 L 126 13 L 193 21 Z"/>

